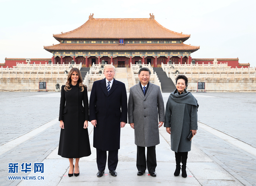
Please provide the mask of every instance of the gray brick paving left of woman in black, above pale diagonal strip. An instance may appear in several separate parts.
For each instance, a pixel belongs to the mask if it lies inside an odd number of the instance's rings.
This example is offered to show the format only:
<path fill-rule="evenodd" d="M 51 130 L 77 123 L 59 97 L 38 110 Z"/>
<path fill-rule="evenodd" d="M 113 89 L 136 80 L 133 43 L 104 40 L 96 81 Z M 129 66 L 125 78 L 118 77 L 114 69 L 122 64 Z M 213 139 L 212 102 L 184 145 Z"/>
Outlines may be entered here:
<path fill-rule="evenodd" d="M 0 145 L 58 116 L 59 97 L 32 97 L 52 92 L 0 92 Z"/>

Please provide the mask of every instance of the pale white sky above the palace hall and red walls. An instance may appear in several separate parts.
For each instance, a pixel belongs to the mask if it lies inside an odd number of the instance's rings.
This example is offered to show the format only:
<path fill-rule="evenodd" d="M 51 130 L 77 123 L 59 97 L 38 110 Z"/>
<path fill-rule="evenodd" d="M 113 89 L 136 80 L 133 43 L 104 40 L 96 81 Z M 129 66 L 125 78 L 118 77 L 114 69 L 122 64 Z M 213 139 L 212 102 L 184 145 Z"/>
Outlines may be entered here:
<path fill-rule="evenodd" d="M 51 58 L 44 45 L 52 34 L 71 31 L 94 18 L 149 18 L 200 45 L 192 58 L 239 58 L 256 66 L 255 0 L 0 0 L 0 63 L 7 58 Z"/>

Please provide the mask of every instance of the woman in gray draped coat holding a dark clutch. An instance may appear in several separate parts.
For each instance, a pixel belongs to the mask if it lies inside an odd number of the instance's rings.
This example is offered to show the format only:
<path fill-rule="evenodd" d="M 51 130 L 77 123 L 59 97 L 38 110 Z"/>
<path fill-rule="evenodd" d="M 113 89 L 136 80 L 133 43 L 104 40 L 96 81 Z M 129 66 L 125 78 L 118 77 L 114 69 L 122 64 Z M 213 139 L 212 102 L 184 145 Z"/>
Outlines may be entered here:
<path fill-rule="evenodd" d="M 197 133 L 197 100 L 185 90 L 188 85 L 187 77 L 176 77 L 176 89 L 172 92 L 166 103 L 165 123 L 166 131 L 171 134 L 171 149 L 175 152 L 176 170 L 178 176 L 187 177 L 187 152 L 191 151 L 191 141 L 187 139 L 190 131 L 193 136 Z M 180 162 L 182 166 L 180 168 Z"/>

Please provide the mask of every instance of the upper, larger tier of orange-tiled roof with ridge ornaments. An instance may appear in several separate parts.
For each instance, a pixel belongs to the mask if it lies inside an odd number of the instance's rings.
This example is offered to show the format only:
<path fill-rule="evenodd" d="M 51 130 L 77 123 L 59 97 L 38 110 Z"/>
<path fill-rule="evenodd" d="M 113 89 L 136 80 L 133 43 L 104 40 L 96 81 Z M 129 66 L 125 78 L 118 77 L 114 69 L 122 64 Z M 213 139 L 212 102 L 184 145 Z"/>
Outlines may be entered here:
<path fill-rule="evenodd" d="M 82 26 L 61 34 L 60 39 L 183 39 L 190 35 L 173 32 L 160 25 L 152 15 L 150 18 L 96 19 L 89 16 Z"/>

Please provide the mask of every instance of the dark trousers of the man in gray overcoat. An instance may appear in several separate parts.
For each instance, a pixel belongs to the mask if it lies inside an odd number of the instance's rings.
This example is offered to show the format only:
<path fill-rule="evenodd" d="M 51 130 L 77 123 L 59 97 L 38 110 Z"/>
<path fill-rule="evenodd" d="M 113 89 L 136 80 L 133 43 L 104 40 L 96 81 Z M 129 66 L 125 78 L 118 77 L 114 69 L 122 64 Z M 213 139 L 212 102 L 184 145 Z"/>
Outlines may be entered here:
<path fill-rule="evenodd" d="M 147 147 L 147 159 L 145 156 L 145 147 L 137 146 L 137 169 L 148 172 L 156 171 L 156 146 Z"/>

